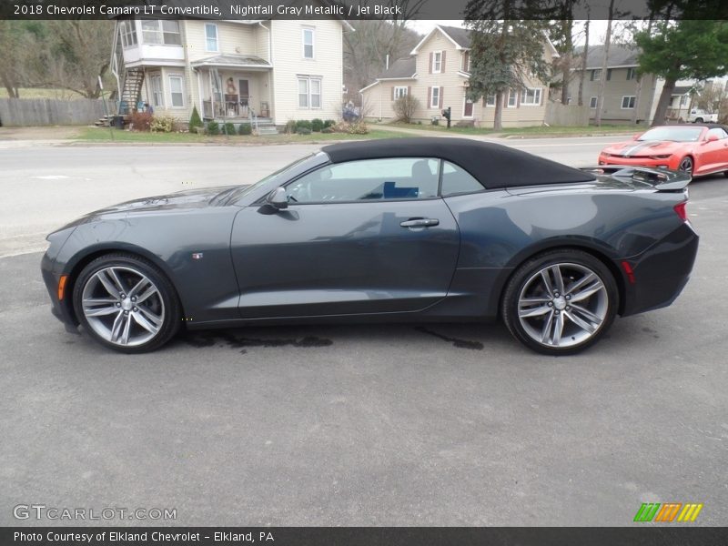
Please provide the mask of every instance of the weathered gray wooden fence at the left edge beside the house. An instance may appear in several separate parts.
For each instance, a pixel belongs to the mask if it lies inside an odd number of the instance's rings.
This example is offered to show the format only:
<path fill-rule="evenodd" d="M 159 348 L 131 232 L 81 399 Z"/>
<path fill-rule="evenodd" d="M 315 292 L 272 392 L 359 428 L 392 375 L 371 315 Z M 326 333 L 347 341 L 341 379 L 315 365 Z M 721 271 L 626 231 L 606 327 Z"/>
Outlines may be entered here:
<path fill-rule="evenodd" d="M 3 126 L 88 125 L 105 114 L 103 101 L 89 98 L 0 98 Z"/>

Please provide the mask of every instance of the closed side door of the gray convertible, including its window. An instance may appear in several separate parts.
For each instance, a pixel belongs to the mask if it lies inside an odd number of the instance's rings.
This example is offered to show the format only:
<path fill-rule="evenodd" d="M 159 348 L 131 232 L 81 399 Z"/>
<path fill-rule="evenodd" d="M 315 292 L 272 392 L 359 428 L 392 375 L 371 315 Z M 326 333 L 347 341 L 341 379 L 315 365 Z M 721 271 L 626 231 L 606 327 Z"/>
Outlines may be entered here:
<path fill-rule="evenodd" d="M 241 210 L 241 317 L 416 311 L 444 298 L 460 235 L 439 178 L 437 159 L 332 164 L 285 185 L 287 208 Z"/>

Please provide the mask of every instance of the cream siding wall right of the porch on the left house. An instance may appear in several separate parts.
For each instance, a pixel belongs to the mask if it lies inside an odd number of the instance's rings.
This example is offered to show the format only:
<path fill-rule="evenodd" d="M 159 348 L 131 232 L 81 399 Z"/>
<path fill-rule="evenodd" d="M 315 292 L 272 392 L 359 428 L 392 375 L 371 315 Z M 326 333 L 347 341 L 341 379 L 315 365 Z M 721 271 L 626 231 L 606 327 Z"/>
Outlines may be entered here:
<path fill-rule="evenodd" d="M 273 108 L 274 123 L 290 119 L 338 119 L 341 116 L 343 86 L 343 43 L 337 20 L 273 20 Z M 314 59 L 303 58 L 301 32 L 315 29 Z M 321 78 L 321 107 L 298 106 L 298 76 Z"/>

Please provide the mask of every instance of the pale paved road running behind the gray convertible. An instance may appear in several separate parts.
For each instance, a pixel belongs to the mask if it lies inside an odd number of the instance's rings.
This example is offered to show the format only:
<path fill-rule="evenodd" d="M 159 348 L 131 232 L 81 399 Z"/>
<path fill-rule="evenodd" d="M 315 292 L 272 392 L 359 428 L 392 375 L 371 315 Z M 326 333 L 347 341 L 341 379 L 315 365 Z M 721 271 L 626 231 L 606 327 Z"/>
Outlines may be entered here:
<path fill-rule="evenodd" d="M 602 147 L 619 138 L 500 142 L 586 167 L 596 162 Z M 44 249 L 50 231 L 97 208 L 181 189 L 250 184 L 317 149 L 319 145 L 18 147 L 0 141 L 0 257 Z"/>

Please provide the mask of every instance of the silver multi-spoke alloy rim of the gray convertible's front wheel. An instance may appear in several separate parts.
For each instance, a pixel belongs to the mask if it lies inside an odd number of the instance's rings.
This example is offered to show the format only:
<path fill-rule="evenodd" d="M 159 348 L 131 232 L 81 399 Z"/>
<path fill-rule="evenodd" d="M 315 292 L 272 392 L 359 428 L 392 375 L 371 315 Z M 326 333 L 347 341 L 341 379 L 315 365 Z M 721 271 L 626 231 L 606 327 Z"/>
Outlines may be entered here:
<path fill-rule="evenodd" d="M 120 346 L 147 343 L 165 321 L 159 289 L 133 268 L 113 266 L 96 271 L 86 281 L 81 305 L 96 334 Z"/>

